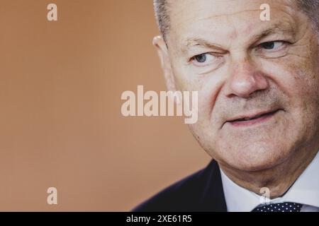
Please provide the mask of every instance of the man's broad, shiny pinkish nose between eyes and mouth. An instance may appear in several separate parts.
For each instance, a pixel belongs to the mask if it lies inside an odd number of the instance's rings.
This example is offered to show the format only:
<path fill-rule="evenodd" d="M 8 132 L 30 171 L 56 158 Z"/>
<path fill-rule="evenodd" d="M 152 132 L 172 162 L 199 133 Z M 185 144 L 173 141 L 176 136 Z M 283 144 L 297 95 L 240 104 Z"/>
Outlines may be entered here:
<path fill-rule="evenodd" d="M 247 98 L 258 90 L 267 90 L 269 82 L 248 57 L 233 61 L 228 79 L 228 97 Z"/>

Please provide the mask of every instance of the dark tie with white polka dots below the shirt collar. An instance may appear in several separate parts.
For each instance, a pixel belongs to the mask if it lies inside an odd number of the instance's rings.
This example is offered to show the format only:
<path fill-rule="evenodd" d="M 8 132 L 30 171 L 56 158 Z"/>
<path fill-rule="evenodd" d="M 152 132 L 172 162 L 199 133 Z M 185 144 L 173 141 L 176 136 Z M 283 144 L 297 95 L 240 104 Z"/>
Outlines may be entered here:
<path fill-rule="evenodd" d="M 266 206 L 257 206 L 252 212 L 300 212 L 302 204 L 299 203 L 272 203 Z"/>

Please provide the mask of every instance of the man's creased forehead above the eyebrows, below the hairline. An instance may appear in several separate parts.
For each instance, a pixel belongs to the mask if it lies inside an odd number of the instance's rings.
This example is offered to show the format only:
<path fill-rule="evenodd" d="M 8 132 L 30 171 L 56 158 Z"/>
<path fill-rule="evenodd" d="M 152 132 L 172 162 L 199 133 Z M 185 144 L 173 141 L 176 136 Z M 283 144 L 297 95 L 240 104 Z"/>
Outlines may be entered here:
<path fill-rule="evenodd" d="M 270 21 L 260 20 L 262 4 L 269 4 Z M 296 13 L 291 0 L 171 0 L 169 33 L 174 38 L 194 34 L 236 38 L 274 23 L 294 26 Z"/>

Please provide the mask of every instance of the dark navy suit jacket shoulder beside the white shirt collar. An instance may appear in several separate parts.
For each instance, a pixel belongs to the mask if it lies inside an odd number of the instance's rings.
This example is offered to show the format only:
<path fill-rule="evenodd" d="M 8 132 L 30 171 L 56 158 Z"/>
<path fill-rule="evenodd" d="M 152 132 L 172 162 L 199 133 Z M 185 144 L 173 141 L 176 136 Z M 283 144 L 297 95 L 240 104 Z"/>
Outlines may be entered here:
<path fill-rule="evenodd" d="M 212 160 L 205 169 L 172 184 L 133 209 L 140 212 L 226 212 L 220 169 Z"/>

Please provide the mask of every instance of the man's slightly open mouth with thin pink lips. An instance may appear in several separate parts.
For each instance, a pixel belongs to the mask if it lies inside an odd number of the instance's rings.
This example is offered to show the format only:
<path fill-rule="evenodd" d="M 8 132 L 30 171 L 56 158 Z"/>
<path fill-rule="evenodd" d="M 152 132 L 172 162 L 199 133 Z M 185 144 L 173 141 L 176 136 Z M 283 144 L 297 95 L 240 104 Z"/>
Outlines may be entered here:
<path fill-rule="evenodd" d="M 224 124 L 229 123 L 232 126 L 251 126 L 253 124 L 259 124 L 271 119 L 280 110 L 282 109 L 276 109 L 270 112 L 260 112 L 257 114 L 252 114 L 250 116 L 240 116 L 240 117 L 236 117 L 235 119 L 230 119 L 228 121 L 225 121 Z"/>

